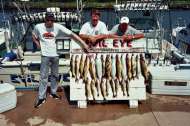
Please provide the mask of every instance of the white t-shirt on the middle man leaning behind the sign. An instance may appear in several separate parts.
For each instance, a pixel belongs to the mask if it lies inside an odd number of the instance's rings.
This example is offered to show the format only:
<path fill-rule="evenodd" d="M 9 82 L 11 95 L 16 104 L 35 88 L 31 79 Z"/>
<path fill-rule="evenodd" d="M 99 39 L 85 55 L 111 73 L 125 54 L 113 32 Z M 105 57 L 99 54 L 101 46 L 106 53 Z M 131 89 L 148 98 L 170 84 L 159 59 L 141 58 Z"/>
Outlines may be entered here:
<path fill-rule="evenodd" d="M 92 26 L 91 22 L 86 22 L 82 26 L 79 34 L 101 35 L 108 34 L 108 30 L 105 23 L 103 23 L 102 21 L 98 21 L 98 24 L 95 27 Z"/>

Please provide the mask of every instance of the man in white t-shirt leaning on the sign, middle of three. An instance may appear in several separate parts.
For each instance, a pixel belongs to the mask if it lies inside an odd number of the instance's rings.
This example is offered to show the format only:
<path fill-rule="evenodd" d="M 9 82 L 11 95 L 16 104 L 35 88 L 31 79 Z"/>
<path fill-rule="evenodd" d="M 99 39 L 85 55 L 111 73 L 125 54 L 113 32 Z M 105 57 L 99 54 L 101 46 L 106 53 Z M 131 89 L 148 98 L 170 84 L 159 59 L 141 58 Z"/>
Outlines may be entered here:
<path fill-rule="evenodd" d="M 108 38 L 108 30 L 104 22 L 100 21 L 100 12 L 92 10 L 91 21 L 83 24 L 79 36 L 88 44 L 96 44 L 97 42 Z"/>

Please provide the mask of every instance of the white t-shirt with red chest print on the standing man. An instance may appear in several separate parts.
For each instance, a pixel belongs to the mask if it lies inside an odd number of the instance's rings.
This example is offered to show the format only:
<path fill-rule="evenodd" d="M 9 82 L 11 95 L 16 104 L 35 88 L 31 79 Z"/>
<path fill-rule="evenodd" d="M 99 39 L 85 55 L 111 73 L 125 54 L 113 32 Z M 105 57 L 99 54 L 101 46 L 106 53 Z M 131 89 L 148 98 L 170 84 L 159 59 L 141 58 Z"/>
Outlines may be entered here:
<path fill-rule="evenodd" d="M 58 56 L 55 40 L 60 33 L 70 36 L 72 31 L 57 23 L 54 23 L 52 28 L 46 28 L 45 23 L 37 24 L 34 27 L 32 34 L 40 40 L 42 56 Z"/>

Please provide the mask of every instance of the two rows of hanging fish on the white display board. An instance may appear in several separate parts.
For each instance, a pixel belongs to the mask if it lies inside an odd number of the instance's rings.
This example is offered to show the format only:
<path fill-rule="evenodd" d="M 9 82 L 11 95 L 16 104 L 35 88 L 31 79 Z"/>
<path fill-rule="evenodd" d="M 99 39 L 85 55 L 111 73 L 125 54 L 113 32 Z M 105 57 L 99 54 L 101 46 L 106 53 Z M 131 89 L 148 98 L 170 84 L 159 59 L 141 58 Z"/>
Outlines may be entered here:
<path fill-rule="evenodd" d="M 119 91 L 129 96 L 128 84 L 142 74 L 148 80 L 148 70 L 143 54 L 73 54 L 70 74 L 76 83 L 85 83 L 87 99 L 100 95 L 117 97 Z M 110 93 L 111 92 L 111 93 Z"/>

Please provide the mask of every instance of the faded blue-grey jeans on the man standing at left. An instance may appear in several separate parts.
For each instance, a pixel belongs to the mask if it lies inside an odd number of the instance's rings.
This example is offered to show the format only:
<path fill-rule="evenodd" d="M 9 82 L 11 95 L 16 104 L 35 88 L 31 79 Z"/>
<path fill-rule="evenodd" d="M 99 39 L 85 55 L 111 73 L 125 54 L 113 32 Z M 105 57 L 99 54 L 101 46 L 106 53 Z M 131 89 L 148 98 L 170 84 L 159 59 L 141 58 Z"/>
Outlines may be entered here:
<path fill-rule="evenodd" d="M 48 84 L 48 76 L 49 76 L 49 68 L 51 69 L 51 93 L 56 94 L 57 91 L 57 81 L 59 79 L 58 74 L 59 67 L 59 57 L 41 57 L 41 67 L 40 67 L 40 85 L 38 98 L 44 99 L 46 98 L 47 84 Z"/>

